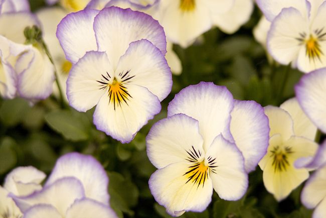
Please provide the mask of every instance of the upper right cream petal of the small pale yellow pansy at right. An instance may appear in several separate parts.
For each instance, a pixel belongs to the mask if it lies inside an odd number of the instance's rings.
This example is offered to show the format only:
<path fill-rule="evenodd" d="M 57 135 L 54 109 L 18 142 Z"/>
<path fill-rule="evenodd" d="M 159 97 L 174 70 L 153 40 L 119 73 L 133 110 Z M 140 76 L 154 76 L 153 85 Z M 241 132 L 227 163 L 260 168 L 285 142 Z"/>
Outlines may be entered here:
<path fill-rule="evenodd" d="M 303 136 L 307 139 L 314 140 L 317 128 L 303 113 L 296 98 L 288 99 L 280 107 L 290 114 L 296 136 Z"/>

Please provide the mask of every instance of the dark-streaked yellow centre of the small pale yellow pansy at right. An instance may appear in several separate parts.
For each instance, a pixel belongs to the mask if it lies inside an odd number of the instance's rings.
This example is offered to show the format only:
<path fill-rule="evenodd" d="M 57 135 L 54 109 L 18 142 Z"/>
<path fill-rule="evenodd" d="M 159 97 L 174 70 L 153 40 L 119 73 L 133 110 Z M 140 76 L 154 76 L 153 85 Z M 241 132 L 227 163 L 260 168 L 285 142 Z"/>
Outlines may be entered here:
<path fill-rule="evenodd" d="M 290 165 L 288 162 L 288 155 L 293 153 L 290 147 L 285 147 L 284 150 L 279 146 L 275 146 L 271 151 L 271 157 L 273 157 L 272 166 L 274 166 L 274 172 L 286 171 Z"/>

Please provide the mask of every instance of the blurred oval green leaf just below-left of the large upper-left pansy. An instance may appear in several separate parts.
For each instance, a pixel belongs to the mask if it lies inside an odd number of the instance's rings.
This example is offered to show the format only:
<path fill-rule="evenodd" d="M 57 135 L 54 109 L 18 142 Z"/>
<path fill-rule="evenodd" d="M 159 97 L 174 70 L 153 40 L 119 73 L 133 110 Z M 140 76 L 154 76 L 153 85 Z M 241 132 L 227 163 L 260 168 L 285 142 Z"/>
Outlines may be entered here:
<path fill-rule="evenodd" d="M 85 114 L 75 111 L 57 110 L 45 116 L 48 125 L 66 139 L 83 141 L 89 137 L 90 122 Z"/>

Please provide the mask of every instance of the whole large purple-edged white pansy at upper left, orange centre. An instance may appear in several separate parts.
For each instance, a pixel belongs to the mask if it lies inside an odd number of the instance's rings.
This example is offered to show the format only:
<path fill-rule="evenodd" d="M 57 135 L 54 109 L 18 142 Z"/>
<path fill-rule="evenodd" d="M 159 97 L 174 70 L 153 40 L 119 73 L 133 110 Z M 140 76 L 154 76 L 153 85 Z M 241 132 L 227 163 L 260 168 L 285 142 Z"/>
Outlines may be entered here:
<path fill-rule="evenodd" d="M 110 7 L 68 15 L 57 37 L 74 64 L 67 80 L 70 105 L 80 112 L 96 105 L 97 129 L 130 142 L 171 91 L 163 28 L 144 13 Z"/>

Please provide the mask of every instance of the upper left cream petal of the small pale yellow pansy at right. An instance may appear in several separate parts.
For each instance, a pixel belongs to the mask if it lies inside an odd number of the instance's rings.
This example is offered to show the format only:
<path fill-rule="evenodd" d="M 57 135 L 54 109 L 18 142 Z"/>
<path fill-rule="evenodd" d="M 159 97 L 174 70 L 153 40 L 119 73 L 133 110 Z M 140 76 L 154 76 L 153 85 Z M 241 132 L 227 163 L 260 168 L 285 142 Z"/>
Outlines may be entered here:
<path fill-rule="evenodd" d="M 269 120 L 269 136 L 280 134 L 283 141 L 294 135 L 293 121 L 289 113 L 276 106 L 265 106 L 265 115 Z"/>

